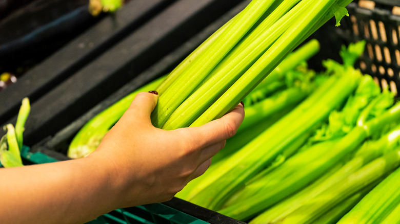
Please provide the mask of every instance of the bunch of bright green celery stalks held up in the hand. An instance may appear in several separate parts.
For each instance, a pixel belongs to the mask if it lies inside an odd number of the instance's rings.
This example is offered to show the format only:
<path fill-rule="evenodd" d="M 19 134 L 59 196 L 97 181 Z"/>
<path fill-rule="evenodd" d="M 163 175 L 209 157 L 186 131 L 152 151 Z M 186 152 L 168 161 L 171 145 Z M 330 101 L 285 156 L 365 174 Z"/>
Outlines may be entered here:
<path fill-rule="evenodd" d="M 153 125 L 171 130 L 222 117 L 333 16 L 337 25 L 350 2 L 253 0 L 152 89 L 160 95 L 151 116 Z M 109 111 L 105 116 L 120 117 L 121 113 Z M 93 125 L 98 123 L 93 121 Z M 92 142 L 81 148 L 79 139 L 87 137 L 80 135 L 71 143 L 71 158 L 92 151 Z M 103 136 L 101 133 L 94 142 Z"/>

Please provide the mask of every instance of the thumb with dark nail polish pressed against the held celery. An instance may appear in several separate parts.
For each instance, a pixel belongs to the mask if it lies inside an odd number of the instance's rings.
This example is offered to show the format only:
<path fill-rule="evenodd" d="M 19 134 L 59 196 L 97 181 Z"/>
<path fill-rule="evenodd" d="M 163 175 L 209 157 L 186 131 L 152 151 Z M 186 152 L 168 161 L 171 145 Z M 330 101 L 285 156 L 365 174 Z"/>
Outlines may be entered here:
<path fill-rule="evenodd" d="M 157 104 L 157 100 L 158 95 L 154 93 L 138 93 L 126 111 L 126 114 L 129 114 L 131 119 L 135 119 L 135 121 L 151 124 L 150 115 Z"/>

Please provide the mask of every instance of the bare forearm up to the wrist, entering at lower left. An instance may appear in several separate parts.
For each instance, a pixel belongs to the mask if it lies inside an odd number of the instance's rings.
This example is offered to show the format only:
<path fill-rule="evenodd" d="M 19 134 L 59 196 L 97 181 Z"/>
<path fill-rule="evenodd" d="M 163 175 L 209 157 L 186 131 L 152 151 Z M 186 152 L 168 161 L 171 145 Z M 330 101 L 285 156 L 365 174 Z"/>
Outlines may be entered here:
<path fill-rule="evenodd" d="M 116 206 L 109 169 L 85 158 L 0 170 L 2 223 L 83 223 Z"/>

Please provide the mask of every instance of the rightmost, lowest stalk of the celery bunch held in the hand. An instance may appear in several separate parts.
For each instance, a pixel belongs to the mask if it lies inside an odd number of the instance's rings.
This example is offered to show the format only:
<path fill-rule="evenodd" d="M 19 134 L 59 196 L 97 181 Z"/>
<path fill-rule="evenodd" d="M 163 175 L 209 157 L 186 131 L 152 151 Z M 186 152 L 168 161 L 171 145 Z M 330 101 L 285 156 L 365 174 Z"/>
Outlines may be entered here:
<path fill-rule="evenodd" d="M 220 118 L 236 106 L 297 46 L 300 40 L 305 39 L 310 34 L 312 27 L 320 23 L 321 18 L 326 16 L 327 13 L 329 14 L 330 7 L 334 3 L 334 0 L 310 1 L 309 8 L 304 10 L 302 16 L 298 19 L 299 22 L 286 30 L 246 73 L 190 126 L 201 126 Z"/>

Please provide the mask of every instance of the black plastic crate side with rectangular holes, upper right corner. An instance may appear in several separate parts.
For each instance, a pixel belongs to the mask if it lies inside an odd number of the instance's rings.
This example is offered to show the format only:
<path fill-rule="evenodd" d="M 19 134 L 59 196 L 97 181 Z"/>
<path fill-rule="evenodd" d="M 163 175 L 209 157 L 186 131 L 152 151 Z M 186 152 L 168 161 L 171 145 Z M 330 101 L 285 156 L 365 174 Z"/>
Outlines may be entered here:
<path fill-rule="evenodd" d="M 400 1 L 376 0 L 351 3 L 349 18 L 337 35 L 348 44 L 366 40 L 364 55 L 356 66 L 398 96 L 400 89 Z M 397 14 L 394 14 L 397 13 Z"/>

